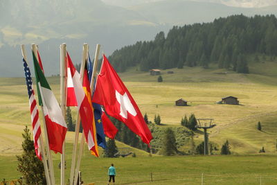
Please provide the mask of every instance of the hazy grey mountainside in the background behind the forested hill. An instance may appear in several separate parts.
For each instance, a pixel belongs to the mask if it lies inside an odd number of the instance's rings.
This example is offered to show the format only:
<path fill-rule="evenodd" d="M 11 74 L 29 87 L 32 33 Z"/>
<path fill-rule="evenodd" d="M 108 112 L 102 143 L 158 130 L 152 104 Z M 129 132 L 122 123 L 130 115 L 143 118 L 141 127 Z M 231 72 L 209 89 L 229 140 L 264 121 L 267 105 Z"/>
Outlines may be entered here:
<path fill-rule="evenodd" d="M 39 44 L 46 75 L 52 75 L 59 73 L 62 42 L 66 42 L 77 63 L 84 42 L 89 43 L 92 54 L 99 43 L 101 52 L 109 55 L 122 46 L 153 39 L 159 31 L 167 32 L 174 25 L 209 22 L 240 13 L 277 14 L 277 6 L 235 8 L 171 0 L 126 9 L 100 0 L 0 0 L 0 77 L 22 76 L 19 44 L 28 44 L 29 60 L 29 44 Z"/>

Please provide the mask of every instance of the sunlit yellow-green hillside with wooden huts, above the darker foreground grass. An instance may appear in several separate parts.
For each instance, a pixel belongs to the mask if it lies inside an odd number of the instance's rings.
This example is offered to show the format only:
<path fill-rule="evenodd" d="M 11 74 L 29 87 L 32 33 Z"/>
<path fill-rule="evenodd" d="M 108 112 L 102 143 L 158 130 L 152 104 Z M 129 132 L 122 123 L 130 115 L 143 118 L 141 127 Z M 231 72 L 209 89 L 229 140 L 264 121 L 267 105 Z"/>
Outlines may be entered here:
<path fill-rule="evenodd" d="M 262 146 L 267 153 L 275 153 L 277 64 L 264 61 L 251 66 L 256 72 L 246 75 L 216 67 L 170 69 L 173 74 L 162 71 L 161 83 L 157 76 L 135 69 L 120 76 L 150 121 L 155 114 L 161 115 L 161 123 L 173 126 L 180 125 L 181 118 L 191 113 L 197 118 L 214 118 L 217 126 L 210 137 L 218 146 L 229 139 L 234 154 L 257 154 Z M 52 77 L 49 82 L 59 99 L 59 80 Z M 1 78 L 0 85 L 1 155 L 13 155 L 20 151 L 24 125 L 30 123 L 26 87 L 23 78 Z M 241 105 L 215 104 L 225 96 L 238 97 Z M 188 100 L 190 106 L 176 107 L 175 100 L 179 98 Z M 262 123 L 262 132 L 256 129 L 258 121 Z M 201 132 L 197 135 L 196 141 L 202 141 Z"/>

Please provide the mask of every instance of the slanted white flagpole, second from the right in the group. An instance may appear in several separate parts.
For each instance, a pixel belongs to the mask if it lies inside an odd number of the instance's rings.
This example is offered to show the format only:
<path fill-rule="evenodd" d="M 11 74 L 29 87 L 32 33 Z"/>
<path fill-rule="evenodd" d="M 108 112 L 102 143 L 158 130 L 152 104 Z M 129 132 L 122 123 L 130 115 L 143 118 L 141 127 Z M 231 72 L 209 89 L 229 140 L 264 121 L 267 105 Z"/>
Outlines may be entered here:
<path fill-rule="evenodd" d="M 81 76 L 81 82 L 83 81 L 83 73 L 84 73 L 84 62 L 87 58 L 87 51 L 89 50 L 89 45 L 87 43 L 84 43 L 83 45 L 83 52 L 82 52 L 82 62 L 81 62 L 81 68 L 80 68 L 80 76 Z M 70 181 L 69 184 L 72 185 L 73 182 L 77 182 L 78 174 L 74 173 L 75 170 L 75 163 L 76 163 L 76 155 L 77 155 L 77 147 L 78 147 L 78 140 L 79 140 L 79 132 L 80 132 L 80 114 L 78 112 L 77 117 L 77 123 L 75 125 L 75 141 L 73 145 L 73 153 L 72 153 L 72 161 L 71 161 L 71 173 L 70 173 Z"/>

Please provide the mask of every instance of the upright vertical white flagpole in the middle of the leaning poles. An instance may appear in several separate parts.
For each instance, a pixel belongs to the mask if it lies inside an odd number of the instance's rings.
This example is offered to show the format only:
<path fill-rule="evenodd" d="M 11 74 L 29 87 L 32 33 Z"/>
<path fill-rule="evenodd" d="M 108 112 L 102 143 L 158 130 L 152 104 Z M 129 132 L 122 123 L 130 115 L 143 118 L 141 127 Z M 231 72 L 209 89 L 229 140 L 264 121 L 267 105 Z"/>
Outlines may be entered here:
<path fill-rule="evenodd" d="M 61 90 L 61 109 L 62 109 L 62 116 L 64 118 L 65 115 L 65 106 L 66 106 L 66 44 L 63 43 L 60 45 L 60 90 Z M 64 185 L 64 169 L 65 168 L 65 139 L 64 143 L 62 144 L 62 155 L 61 155 L 61 185 Z"/>

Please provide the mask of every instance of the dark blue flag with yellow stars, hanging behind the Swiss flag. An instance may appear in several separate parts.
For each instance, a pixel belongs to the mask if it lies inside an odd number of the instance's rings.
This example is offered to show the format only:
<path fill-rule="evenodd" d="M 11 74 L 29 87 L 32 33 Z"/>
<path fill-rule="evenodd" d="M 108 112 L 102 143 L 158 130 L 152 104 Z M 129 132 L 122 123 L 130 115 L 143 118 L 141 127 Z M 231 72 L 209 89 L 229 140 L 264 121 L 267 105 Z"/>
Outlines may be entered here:
<path fill-rule="evenodd" d="M 89 82 L 91 82 L 91 78 L 92 78 L 92 62 L 91 62 L 91 58 L 89 57 L 89 61 L 87 62 L 87 73 L 89 75 Z M 94 83 L 95 84 L 95 83 Z M 93 87 L 94 89 L 94 87 Z M 106 144 L 106 139 L 105 139 L 105 134 L 104 134 L 104 129 L 103 129 L 103 125 L 102 125 L 102 109 L 101 106 L 97 103 L 93 103 L 93 109 L 94 109 L 94 119 L 95 119 L 95 123 L 96 123 L 96 136 L 97 136 L 97 144 L 98 146 L 102 147 L 102 148 L 107 148 L 107 144 Z"/>

